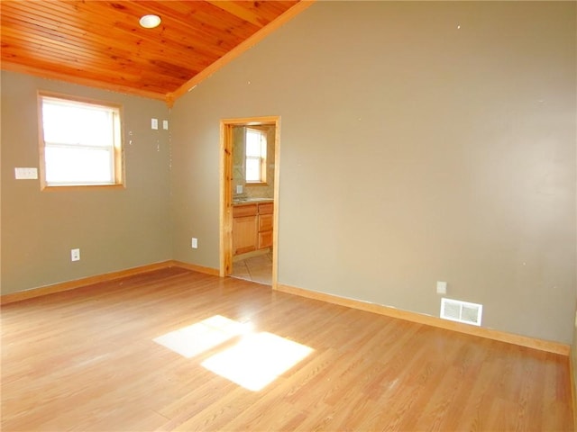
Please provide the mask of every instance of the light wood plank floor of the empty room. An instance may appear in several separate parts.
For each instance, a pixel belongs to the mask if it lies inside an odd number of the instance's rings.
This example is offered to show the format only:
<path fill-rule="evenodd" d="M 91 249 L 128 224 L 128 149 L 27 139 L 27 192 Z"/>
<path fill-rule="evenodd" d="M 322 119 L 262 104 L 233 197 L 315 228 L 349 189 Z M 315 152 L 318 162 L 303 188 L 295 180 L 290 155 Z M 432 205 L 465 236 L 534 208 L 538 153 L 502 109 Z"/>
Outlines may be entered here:
<path fill-rule="evenodd" d="M 246 333 L 188 357 L 154 341 L 205 343 L 217 316 Z M 308 354 L 261 391 L 204 366 L 256 374 L 283 344 Z M 2 430 L 572 430 L 569 364 L 175 267 L 3 306 Z"/>

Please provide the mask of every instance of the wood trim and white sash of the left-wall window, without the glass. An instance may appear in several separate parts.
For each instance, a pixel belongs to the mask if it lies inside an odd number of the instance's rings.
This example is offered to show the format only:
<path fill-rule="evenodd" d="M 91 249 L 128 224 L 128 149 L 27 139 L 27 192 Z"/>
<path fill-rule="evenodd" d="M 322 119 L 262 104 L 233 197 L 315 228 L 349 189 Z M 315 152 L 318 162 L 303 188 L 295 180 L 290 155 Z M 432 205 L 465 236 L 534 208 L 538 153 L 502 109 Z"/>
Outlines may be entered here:
<path fill-rule="evenodd" d="M 42 115 L 42 107 L 44 101 L 57 101 L 59 103 L 69 104 L 70 106 L 78 105 L 81 107 L 91 107 L 102 109 L 111 113 L 111 121 L 113 122 L 111 128 L 111 145 L 110 146 L 90 146 L 88 144 L 80 143 L 56 143 L 46 142 L 44 139 L 44 119 Z M 110 103 L 105 101 L 98 101 L 94 99 L 82 98 L 78 96 L 71 96 L 67 94 L 54 94 L 49 92 L 38 93 L 38 119 L 40 131 L 40 179 L 41 189 L 70 189 L 70 188 L 90 188 L 90 187 L 124 187 L 124 152 L 123 152 L 123 107 L 118 103 Z M 80 139 L 78 139 L 80 141 Z M 46 176 L 46 148 L 78 148 L 78 149 L 102 149 L 108 148 L 111 153 L 110 168 L 112 171 L 110 181 L 87 182 L 78 178 L 70 178 L 61 182 L 50 182 Z"/>

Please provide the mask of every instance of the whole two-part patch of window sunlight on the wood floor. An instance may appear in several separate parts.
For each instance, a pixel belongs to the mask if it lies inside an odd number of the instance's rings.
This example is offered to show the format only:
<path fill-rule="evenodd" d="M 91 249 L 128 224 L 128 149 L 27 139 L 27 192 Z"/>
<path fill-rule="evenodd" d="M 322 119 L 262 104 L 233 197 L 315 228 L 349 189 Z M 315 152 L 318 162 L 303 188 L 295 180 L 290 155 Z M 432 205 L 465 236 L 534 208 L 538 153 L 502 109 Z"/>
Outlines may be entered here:
<path fill-rule="evenodd" d="M 258 392 L 314 350 L 268 332 L 252 332 L 250 324 L 220 315 L 155 338 L 181 356 L 191 358 L 239 337 L 233 347 L 208 357 L 201 365 L 252 392 Z"/>

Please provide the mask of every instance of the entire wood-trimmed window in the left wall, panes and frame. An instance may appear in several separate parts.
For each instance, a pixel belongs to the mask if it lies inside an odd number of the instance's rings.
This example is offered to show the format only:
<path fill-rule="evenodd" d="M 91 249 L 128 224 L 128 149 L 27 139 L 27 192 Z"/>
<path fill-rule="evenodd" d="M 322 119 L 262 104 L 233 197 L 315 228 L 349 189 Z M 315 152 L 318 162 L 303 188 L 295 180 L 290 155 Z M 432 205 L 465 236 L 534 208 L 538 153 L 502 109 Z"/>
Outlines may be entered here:
<path fill-rule="evenodd" d="M 121 107 L 39 94 L 41 185 L 122 185 Z"/>

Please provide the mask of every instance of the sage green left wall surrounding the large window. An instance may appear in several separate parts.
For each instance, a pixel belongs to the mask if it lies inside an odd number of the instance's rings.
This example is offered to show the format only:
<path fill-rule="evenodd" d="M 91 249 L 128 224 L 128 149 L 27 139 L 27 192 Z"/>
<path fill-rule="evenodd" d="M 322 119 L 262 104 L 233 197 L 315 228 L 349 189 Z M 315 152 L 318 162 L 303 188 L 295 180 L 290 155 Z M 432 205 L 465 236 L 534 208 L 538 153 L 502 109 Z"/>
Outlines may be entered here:
<path fill-rule="evenodd" d="M 1 84 L 2 293 L 170 259 L 169 132 L 151 130 L 167 106 L 11 72 Z M 14 167 L 39 166 L 38 90 L 124 105 L 125 189 L 41 192 L 38 180 L 14 179 Z"/>

